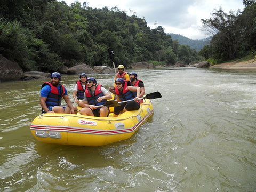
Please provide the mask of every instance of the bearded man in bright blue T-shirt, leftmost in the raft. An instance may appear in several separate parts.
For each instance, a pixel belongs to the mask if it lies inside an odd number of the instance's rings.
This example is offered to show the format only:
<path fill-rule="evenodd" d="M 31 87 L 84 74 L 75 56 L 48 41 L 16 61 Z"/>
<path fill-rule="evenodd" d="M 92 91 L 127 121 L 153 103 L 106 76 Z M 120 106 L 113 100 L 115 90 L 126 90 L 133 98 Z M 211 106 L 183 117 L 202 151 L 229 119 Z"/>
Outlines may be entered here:
<path fill-rule="evenodd" d="M 70 113 L 76 114 L 74 107 L 68 97 L 67 89 L 60 84 L 61 75 L 58 72 L 51 74 L 51 81 L 45 82 L 40 91 L 40 104 L 42 114 L 44 113 Z M 61 99 L 66 101 L 67 107 L 61 106 Z"/>

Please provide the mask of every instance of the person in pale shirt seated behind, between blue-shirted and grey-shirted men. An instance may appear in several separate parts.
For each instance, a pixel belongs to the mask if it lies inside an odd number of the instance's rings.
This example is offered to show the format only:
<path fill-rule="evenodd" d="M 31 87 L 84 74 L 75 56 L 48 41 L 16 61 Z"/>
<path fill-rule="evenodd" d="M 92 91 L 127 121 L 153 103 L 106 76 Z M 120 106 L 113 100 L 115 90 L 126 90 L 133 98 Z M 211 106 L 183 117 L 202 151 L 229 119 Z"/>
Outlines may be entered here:
<path fill-rule="evenodd" d="M 73 98 L 75 100 L 75 103 L 77 103 L 78 105 L 79 105 L 79 100 L 84 99 L 84 92 L 85 92 L 85 88 L 86 88 L 86 79 L 87 79 L 87 75 L 85 73 L 81 73 L 80 80 L 76 81 L 75 89 L 73 92 Z"/>

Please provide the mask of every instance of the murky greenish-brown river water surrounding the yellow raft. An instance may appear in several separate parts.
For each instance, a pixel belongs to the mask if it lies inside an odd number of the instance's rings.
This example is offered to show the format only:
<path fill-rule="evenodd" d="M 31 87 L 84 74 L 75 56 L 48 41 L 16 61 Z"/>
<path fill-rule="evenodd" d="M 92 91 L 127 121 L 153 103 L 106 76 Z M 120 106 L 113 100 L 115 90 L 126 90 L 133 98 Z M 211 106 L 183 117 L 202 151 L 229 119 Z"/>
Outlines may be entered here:
<path fill-rule="evenodd" d="M 256 71 L 135 72 L 162 98 L 130 139 L 102 147 L 37 141 L 29 128 L 48 79 L 0 83 L 0 191 L 256 191 Z M 77 78 L 62 76 L 71 101 Z"/>

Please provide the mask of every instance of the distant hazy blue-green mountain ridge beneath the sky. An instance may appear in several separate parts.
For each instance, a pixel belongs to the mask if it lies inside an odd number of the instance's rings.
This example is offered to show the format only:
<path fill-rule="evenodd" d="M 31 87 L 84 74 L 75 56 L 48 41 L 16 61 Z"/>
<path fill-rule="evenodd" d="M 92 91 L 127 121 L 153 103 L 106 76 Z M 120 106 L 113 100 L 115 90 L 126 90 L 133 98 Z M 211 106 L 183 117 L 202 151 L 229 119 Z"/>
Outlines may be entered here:
<path fill-rule="evenodd" d="M 187 37 L 179 35 L 179 34 L 169 33 L 167 35 L 171 35 L 172 39 L 178 40 L 178 42 L 181 45 L 188 45 L 191 49 L 195 49 L 196 51 L 200 51 L 201 49 L 203 49 L 203 47 L 205 45 L 210 44 L 209 41 L 206 38 L 201 39 L 201 40 L 192 40 L 190 38 L 187 38 Z"/>

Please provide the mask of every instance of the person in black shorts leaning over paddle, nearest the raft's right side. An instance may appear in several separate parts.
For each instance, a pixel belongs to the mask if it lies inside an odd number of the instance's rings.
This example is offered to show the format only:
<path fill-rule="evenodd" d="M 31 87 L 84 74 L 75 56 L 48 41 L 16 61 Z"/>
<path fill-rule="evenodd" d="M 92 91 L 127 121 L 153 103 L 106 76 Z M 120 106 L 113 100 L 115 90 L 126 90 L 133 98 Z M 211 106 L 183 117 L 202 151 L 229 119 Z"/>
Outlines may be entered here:
<path fill-rule="evenodd" d="M 138 110 L 140 108 L 140 103 L 138 101 L 140 95 L 140 87 L 127 86 L 127 82 L 122 78 L 117 78 L 115 93 L 117 102 L 128 101 L 120 103 L 120 106 L 114 107 L 114 117 L 117 117 L 119 114 L 124 113 L 125 111 Z M 136 92 L 136 97 L 133 92 Z"/>

